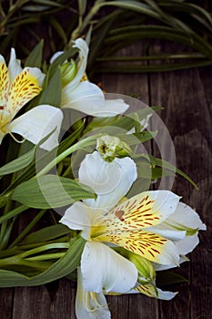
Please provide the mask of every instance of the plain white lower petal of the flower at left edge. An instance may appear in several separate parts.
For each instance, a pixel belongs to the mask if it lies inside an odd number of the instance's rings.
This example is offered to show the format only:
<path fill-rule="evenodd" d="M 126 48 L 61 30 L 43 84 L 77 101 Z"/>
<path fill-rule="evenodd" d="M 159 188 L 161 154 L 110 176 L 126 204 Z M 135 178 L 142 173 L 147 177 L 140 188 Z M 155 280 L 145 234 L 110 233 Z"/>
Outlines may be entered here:
<path fill-rule="evenodd" d="M 15 118 L 7 129 L 20 134 L 34 144 L 44 139 L 47 134 L 56 131 L 41 145 L 42 149 L 54 149 L 58 145 L 58 135 L 63 120 L 63 113 L 59 108 L 41 105 L 30 109 L 19 118 Z"/>

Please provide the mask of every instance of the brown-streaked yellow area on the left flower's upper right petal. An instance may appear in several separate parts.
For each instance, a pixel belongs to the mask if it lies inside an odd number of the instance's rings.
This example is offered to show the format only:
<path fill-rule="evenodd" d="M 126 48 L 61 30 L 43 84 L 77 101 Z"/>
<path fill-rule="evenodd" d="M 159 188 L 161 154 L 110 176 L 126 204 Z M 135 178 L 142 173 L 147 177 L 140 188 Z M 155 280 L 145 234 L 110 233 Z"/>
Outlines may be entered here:
<path fill-rule="evenodd" d="M 41 90 L 42 87 L 39 86 L 37 78 L 30 74 L 28 68 L 17 75 L 11 83 L 6 101 L 6 109 L 11 113 L 12 118 L 25 103 L 35 98 Z"/>

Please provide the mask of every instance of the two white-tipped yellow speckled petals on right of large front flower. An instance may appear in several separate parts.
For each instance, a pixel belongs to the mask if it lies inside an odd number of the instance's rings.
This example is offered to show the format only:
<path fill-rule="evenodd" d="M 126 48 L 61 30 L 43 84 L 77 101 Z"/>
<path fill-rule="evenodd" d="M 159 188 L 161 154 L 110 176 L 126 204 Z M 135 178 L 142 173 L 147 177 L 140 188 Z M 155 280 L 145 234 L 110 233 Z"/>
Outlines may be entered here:
<path fill-rule="evenodd" d="M 102 218 L 106 231 L 96 237 L 135 252 L 151 262 L 178 264 L 175 244 L 147 228 L 176 210 L 178 196 L 167 190 L 146 191 L 123 201 Z"/>

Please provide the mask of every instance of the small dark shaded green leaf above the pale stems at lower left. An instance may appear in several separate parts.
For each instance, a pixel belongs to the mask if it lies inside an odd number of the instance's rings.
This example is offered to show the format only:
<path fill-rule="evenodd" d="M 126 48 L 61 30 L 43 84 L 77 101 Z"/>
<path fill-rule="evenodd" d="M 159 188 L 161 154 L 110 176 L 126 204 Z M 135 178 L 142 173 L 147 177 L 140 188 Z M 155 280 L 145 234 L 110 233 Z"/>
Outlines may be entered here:
<path fill-rule="evenodd" d="M 63 224 L 52 225 L 28 235 L 25 238 L 24 244 L 51 241 L 58 237 L 64 236 L 70 232 L 70 229 Z"/>

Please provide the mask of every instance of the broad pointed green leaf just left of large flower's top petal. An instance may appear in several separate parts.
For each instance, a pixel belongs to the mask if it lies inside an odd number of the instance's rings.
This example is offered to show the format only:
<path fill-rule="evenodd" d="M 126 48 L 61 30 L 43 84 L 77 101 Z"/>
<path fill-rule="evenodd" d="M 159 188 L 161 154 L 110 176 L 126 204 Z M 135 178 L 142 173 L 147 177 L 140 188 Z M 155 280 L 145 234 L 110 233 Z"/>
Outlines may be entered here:
<path fill-rule="evenodd" d="M 88 198 L 96 198 L 96 195 L 86 185 L 56 175 L 27 180 L 18 185 L 12 195 L 12 200 L 39 209 L 64 207 Z"/>

